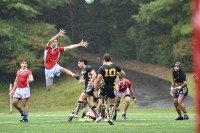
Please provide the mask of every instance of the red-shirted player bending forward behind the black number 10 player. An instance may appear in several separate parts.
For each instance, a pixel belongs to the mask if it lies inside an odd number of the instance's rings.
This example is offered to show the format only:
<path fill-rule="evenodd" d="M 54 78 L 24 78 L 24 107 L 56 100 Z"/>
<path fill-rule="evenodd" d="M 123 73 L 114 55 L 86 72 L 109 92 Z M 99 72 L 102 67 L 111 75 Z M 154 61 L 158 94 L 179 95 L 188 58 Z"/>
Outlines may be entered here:
<path fill-rule="evenodd" d="M 117 104 L 116 107 L 119 106 L 121 97 L 124 97 L 125 99 L 125 105 L 124 105 L 124 110 L 122 113 L 122 118 L 126 119 L 126 111 L 128 110 L 129 103 L 130 103 L 130 96 L 136 103 L 136 99 L 134 97 L 134 91 L 132 88 L 132 83 L 128 79 L 125 78 L 119 78 L 119 81 L 117 82 L 116 85 L 116 90 L 117 90 Z"/>

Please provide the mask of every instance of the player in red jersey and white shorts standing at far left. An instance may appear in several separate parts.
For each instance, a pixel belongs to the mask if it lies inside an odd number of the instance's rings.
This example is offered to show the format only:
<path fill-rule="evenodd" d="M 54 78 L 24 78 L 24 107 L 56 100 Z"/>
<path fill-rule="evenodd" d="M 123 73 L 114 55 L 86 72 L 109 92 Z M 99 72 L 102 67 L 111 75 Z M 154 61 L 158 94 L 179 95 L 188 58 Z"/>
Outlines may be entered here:
<path fill-rule="evenodd" d="M 21 113 L 21 122 L 28 122 L 28 98 L 30 97 L 30 87 L 29 83 L 33 82 L 33 75 L 30 70 L 28 70 L 28 64 L 26 60 L 22 60 L 21 69 L 16 73 L 15 82 L 13 89 L 10 92 L 13 95 L 13 105 Z M 24 106 L 24 111 L 18 104 L 19 100 L 22 99 L 22 104 Z"/>

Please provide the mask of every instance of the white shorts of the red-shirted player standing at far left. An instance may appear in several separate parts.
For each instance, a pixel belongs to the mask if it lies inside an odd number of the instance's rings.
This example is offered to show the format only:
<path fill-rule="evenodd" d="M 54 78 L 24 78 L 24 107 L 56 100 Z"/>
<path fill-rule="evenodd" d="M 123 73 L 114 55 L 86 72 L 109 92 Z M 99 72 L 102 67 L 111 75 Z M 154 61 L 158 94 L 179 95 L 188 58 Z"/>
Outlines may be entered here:
<path fill-rule="evenodd" d="M 25 99 L 30 97 L 30 88 L 16 88 L 14 94 L 14 98 Z"/>

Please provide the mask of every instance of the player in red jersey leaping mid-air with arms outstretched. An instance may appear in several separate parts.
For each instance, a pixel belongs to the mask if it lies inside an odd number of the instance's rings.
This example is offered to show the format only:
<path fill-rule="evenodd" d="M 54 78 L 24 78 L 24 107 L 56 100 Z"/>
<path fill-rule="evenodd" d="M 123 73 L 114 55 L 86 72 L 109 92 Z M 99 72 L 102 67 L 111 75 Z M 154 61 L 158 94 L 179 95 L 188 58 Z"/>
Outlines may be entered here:
<path fill-rule="evenodd" d="M 45 77 L 46 77 L 46 86 L 47 90 L 50 91 L 53 85 L 54 76 L 60 76 L 63 72 L 67 75 L 71 75 L 73 78 L 79 80 L 79 75 L 74 74 L 70 70 L 61 67 L 58 64 L 58 59 L 61 52 L 68 51 L 70 49 L 74 49 L 77 47 L 87 47 L 87 41 L 81 41 L 78 44 L 72 44 L 66 47 L 58 47 L 57 38 L 60 36 L 64 36 L 65 30 L 61 29 L 57 35 L 52 37 L 48 43 L 46 44 L 44 51 L 44 66 L 45 66 Z"/>

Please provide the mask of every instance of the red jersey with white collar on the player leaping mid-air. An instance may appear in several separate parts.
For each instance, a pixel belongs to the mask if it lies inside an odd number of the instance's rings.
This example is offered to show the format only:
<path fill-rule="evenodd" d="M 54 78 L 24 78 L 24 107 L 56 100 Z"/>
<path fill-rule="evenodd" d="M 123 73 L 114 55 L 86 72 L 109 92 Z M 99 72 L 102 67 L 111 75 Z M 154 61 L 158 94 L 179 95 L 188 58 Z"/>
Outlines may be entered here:
<path fill-rule="evenodd" d="M 51 48 L 50 46 L 45 47 L 44 51 L 44 66 L 47 69 L 53 68 L 59 59 L 60 53 L 64 51 L 64 47 Z"/>

